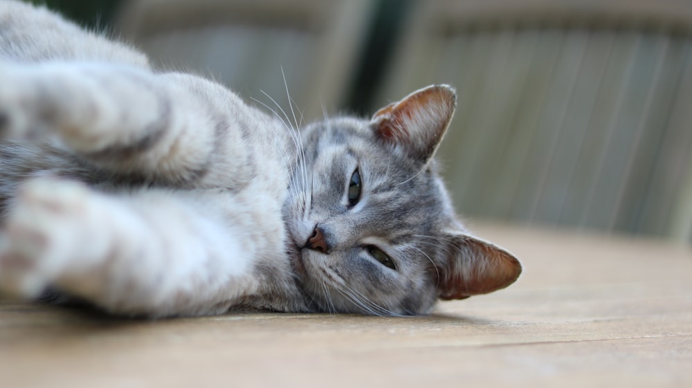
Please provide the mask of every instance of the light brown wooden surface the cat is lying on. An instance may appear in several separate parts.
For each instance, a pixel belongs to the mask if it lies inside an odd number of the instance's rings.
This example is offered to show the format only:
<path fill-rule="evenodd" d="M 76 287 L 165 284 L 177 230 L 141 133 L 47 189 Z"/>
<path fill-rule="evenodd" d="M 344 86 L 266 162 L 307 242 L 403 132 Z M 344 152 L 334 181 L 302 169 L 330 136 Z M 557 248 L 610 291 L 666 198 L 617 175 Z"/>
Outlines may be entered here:
<path fill-rule="evenodd" d="M 692 251 L 484 225 L 517 284 L 435 315 L 159 322 L 0 302 L 0 387 L 692 387 Z"/>

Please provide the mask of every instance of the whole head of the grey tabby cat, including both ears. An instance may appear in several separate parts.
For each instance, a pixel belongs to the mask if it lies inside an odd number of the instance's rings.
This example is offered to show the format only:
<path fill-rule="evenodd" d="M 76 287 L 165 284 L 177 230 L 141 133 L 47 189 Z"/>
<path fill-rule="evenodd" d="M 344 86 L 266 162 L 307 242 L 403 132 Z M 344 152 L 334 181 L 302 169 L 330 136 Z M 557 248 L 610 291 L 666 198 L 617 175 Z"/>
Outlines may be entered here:
<path fill-rule="evenodd" d="M 428 313 L 437 299 L 509 286 L 511 253 L 457 221 L 432 156 L 455 92 L 430 86 L 370 120 L 332 118 L 301 133 L 284 219 L 291 262 L 322 311 Z"/>

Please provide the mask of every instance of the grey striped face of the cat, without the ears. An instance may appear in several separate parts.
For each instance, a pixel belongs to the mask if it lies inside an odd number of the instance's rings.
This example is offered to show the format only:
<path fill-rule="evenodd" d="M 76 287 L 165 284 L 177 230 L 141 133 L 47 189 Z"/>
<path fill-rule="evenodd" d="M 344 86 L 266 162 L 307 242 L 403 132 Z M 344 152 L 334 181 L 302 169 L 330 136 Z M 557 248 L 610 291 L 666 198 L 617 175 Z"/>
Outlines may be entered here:
<path fill-rule="evenodd" d="M 437 299 L 426 255 L 440 194 L 429 169 L 402 166 L 367 125 L 307 129 L 319 151 L 307 149 L 306 194 L 291 216 L 298 275 L 325 311 L 425 312 Z"/>

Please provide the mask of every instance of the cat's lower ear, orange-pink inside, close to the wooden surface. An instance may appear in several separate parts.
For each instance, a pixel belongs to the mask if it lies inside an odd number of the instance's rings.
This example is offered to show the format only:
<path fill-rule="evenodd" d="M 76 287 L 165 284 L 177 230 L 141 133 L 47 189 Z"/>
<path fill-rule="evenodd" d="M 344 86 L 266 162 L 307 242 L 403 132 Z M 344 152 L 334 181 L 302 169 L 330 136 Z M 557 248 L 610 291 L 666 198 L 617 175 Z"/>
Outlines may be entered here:
<path fill-rule="evenodd" d="M 487 294 L 514 283 L 521 274 L 519 260 L 493 243 L 455 232 L 444 238 L 449 245 L 438 266 L 440 299 L 465 299 Z"/>

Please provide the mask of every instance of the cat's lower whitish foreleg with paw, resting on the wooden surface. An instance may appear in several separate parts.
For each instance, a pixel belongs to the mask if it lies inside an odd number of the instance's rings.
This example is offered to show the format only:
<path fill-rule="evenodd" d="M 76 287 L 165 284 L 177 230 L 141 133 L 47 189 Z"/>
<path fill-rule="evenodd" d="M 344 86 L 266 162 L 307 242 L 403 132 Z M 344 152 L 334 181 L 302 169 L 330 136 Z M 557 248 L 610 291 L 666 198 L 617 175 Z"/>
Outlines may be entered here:
<path fill-rule="evenodd" d="M 28 183 L 0 230 L 0 290 L 33 297 L 54 286 L 127 315 L 221 313 L 256 284 L 253 247 L 213 202 Z"/>

